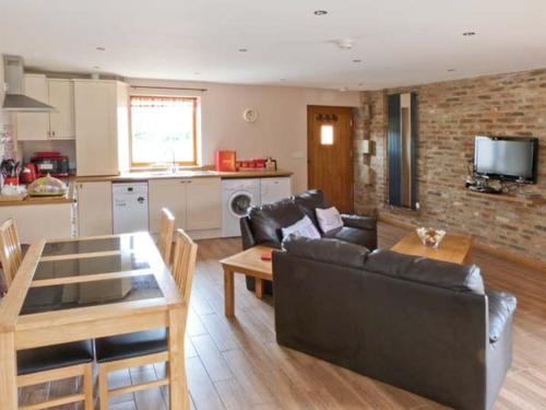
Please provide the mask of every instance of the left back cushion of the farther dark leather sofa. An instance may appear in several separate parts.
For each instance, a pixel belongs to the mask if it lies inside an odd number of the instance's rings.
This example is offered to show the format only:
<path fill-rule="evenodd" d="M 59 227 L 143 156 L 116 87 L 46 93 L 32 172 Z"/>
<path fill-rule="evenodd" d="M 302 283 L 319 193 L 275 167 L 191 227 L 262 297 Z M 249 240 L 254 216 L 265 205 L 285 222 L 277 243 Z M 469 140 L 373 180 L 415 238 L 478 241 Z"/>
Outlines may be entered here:
<path fill-rule="evenodd" d="M 281 230 L 295 224 L 304 216 L 305 213 L 292 199 L 283 199 L 262 207 L 252 207 L 248 212 L 257 245 L 280 245 L 282 242 Z"/>

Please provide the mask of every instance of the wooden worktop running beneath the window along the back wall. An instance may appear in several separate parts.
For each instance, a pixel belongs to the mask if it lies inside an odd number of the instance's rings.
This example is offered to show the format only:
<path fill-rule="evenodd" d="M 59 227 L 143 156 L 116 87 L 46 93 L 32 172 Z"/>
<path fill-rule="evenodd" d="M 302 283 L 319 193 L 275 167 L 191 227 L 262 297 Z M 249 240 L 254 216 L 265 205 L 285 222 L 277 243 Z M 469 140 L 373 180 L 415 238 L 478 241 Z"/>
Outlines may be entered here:
<path fill-rule="evenodd" d="M 268 177 L 282 177 L 292 176 L 293 173 L 289 171 L 237 171 L 237 172 L 217 172 L 209 169 L 195 169 L 195 171 L 180 171 L 176 174 L 170 172 L 136 172 L 127 173 L 120 175 L 110 176 L 83 176 L 75 177 L 79 183 L 92 183 L 92 181 L 107 181 L 112 183 L 130 183 L 133 180 L 149 180 L 149 179 L 178 179 L 178 178 L 268 178 Z"/>

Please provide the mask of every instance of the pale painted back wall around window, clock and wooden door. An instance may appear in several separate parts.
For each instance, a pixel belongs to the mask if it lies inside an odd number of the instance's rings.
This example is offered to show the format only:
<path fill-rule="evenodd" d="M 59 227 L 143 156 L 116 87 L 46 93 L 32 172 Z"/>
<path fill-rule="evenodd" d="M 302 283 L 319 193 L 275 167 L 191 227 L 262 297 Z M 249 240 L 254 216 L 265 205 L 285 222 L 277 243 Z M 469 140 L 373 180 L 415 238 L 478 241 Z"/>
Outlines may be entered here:
<path fill-rule="evenodd" d="M 131 85 L 203 87 L 206 92 L 131 89 L 132 94 L 198 95 L 201 97 L 201 163 L 214 163 L 214 151 L 237 151 L 238 159 L 271 155 L 280 168 L 294 172 L 294 190 L 307 188 L 307 106 L 359 105 L 358 92 L 319 89 L 187 83 L 129 79 Z M 242 119 L 246 108 L 259 113 L 256 122 Z"/>

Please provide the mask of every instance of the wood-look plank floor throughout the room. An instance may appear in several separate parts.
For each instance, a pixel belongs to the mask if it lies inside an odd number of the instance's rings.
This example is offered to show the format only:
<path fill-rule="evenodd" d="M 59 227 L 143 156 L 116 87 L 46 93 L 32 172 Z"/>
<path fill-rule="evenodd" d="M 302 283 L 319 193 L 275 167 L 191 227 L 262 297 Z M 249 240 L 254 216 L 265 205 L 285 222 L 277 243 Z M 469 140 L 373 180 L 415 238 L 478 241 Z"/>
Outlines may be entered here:
<path fill-rule="evenodd" d="M 405 231 L 380 225 L 380 246 Z M 352 373 L 275 342 L 271 297 L 258 300 L 236 276 L 236 318 L 224 317 L 218 259 L 240 249 L 239 239 L 199 242 L 186 341 L 193 409 L 441 409 L 427 399 Z M 546 272 L 475 251 L 486 284 L 518 296 L 514 359 L 496 409 L 546 409 Z M 112 375 L 111 387 L 156 378 L 163 365 Z M 23 403 L 72 391 L 75 380 L 26 388 Z M 111 410 L 166 410 L 165 389 L 119 396 Z M 76 408 L 80 408 L 76 406 Z M 74 406 L 57 408 L 73 410 Z"/>

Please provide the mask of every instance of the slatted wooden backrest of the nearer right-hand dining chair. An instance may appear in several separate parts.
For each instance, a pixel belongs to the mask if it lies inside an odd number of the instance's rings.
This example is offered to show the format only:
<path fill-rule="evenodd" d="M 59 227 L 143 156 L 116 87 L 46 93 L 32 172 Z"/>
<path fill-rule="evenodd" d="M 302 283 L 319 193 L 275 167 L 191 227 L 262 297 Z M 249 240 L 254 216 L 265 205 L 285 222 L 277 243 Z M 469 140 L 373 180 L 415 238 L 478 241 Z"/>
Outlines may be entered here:
<path fill-rule="evenodd" d="M 183 303 L 189 305 L 198 245 L 182 230 L 177 230 L 175 236 L 175 262 L 171 272 Z"/>

